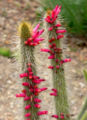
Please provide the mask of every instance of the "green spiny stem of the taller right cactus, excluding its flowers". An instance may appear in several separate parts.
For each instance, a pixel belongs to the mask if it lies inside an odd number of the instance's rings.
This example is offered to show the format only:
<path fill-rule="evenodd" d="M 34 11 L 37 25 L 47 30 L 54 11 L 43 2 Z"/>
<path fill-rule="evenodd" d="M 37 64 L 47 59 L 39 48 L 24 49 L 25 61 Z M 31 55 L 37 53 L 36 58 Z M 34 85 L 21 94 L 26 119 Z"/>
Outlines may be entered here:
<path fill-rule="evenodd" d="M 46 15 L 45 17 L 46 18 Z M 45 38 L 47 41 L 51 40 L 52 38 L 55 38 L 53 41 L 54 44 L 56 44 L 57 48 L 61 48 L 61 40 L 57 39 L 57 33 L 56 28 L 53 30 L 49 30 L 52 26 L 55 26 L 58 24 L 58 20 L 56 20 L 53 24 L 50 24 L 48 22 L 44 22 L 44 28 L 45 28 Z M 48 43 L 51 45 L 50 43 Z M 51 50 L 51 49 L 50 49 Z M 56 114 L 58 116 L 61 115 L 61 113 L 64 114 L 64 120 L 70 120 L 69 116 L 69 105 L 67 100 L 67 92 L 66 92 L 66 83 L 65 83 L 65 77 L 64 77 L 64 67 L 63 65 L 60 66 L 59 69 L 56 68 L 57 65 L 59 65 L 60 61 L 62 60 L 62 52 L 59 54 L 55 54 L 55 59 L 58 59 L 59 62 L 55 62 L 54 59 L 51 60 L 51 66 L 54 68 L 53 71 L 53 86 L 55 89 L 58 90 L 58 95 L 55 96 L 55 106 L 56 106 Z"/>

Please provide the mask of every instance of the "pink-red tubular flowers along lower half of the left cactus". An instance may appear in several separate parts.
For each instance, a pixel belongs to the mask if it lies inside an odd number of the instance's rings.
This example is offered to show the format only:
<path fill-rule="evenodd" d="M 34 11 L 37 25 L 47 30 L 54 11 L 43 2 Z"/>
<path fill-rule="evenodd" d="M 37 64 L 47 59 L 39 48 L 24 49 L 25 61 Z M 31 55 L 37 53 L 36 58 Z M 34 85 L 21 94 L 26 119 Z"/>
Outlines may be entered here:
<path fill-rule="evenodd" d="M 33 74 L 32 71 L 32 66 L 31 64 L 28 64 L 28 68 L 27 68 L 27 72 L 26 73 L 22 73 L 20 74 L 20 78 L 24 78 L 26 77 L 27 79 L 29 79 L 28 82 L 23 82 L 22 85 L 26 86 L 26 88 L 28 88 L 29 91 L 27 91 L 26 89 L 22 90 L 22 93 L 20 94 L 16 94 L 16 97 L 23 97 L 24 101 L 29 101 L 30 104 L 25 106 L 25 110 L 29 110 L 31 109 L 31 102 L 34 103 L 34 107 L 35 108 L 40 108 L 39 103 L 42 102 L 39 98 L 38 98 L 38 94 L 42 91 L 47 90 L 47 88 L 39 88 L 38 84 L 40 84 L 41 82 L 45 81 L 45 79 L 41 79 L 38 76 L 35 76 Z M 30 94 L 30 95 L 28 95 Z M 44 115 L 44 114 L 48 114 L 48 111 L 38 111 L 37 115 Z M 25 117 L 28 118 L 31 116 L 31 113 L 26 113 Z M 30 120 L 29 118 L 27 120 Z"/>

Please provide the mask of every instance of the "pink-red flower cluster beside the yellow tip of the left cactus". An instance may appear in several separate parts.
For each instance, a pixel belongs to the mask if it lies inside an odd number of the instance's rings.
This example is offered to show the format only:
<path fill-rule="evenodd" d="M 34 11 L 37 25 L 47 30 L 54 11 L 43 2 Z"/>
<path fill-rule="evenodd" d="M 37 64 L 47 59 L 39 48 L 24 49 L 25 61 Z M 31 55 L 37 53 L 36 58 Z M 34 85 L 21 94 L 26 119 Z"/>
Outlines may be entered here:
<path fill-rule="evenodd" d="M 40 24 L 37 24 L 36 27 L 33 29 L 33 33 L 30 38 L 28 38 L 27 41 L 25 41 L 26 45 L 29 46 L 36 46 L 40 43 L 40 41 L 43 41 L 43 38 L 39 38 L 39 36 L 44 32 L 43 29 L 38 30 L 40 27 Z"/>

